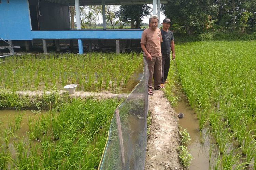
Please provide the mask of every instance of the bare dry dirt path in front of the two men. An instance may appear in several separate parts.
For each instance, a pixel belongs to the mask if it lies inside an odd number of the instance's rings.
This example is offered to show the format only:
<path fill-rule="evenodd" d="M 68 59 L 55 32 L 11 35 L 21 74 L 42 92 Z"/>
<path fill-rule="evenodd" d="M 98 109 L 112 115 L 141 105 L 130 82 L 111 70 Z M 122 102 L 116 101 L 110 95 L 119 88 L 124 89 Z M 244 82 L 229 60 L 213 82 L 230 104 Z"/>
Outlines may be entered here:
<path fill-rule="evenodd" d="M 178 152 L 179 130 L 174 109 L 164 97 L 163 91 L 153 91 L 150 96 L 151 126 L 147 140 L 145 169 L 182 170 Z"/>

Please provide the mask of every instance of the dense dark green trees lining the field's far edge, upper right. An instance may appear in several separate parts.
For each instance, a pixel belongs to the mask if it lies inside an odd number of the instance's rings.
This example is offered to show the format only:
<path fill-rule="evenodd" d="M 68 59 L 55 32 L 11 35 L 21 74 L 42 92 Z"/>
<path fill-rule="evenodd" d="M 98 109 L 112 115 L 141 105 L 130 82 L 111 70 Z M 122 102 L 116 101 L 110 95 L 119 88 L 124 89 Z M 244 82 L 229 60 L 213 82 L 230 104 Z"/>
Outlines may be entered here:
<path fill-rule="evenodd" d="M 229 32 L 256 31 L 254 0 L 169 0 L 161 10 L 190 35 L 220 28 Z"/>

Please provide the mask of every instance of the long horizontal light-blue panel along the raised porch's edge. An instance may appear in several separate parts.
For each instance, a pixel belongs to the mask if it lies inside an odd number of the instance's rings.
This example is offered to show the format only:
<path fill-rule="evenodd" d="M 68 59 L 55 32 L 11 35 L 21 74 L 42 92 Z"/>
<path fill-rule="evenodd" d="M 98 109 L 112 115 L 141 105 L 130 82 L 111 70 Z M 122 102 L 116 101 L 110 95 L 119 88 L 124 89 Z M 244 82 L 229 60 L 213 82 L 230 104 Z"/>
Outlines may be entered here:
<path fill-rule="evenodd" d="M 33 39 L 140 39 L 142 30 L 67 30 L 67 31 L 32 31 Z"/>

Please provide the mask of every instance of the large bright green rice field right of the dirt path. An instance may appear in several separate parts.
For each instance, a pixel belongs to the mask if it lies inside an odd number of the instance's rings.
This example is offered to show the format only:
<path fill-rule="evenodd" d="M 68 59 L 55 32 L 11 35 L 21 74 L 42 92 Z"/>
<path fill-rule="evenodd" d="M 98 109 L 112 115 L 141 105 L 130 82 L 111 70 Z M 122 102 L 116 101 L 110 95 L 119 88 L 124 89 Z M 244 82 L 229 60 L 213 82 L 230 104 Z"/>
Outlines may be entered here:
<path fill-rule="evenodd" d="M 255 47 L 256 41 L 176 46 L 175 65 L 203 134 L 200 142 L 211 138 L 209 169 L 256 169 Z"/>

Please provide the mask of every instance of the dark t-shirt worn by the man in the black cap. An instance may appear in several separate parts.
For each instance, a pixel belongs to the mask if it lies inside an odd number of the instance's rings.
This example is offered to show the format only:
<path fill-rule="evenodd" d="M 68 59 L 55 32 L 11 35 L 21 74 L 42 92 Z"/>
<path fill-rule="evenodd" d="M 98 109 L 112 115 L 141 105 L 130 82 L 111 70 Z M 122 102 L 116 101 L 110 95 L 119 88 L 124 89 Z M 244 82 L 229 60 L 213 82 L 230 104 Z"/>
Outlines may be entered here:
<path fill-rule="evenodd" d="M 162 54 L 169 54 L 171 51 L 171 41 L 174 40 L 173 33 L 168 30 L 165 32 L 161 29 L 162 39 L 163 42 L 161 43 L 161 53 Z"/>

